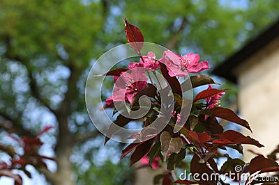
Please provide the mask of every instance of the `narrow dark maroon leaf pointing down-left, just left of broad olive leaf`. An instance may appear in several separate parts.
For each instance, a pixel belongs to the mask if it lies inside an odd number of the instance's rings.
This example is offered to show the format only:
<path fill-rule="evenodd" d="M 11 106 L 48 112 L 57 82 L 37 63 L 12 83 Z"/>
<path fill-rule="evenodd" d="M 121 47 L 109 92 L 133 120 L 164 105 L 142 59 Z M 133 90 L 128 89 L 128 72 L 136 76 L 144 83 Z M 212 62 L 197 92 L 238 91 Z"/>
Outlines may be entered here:
<path fill-rule="evenodd" d="M 137 161 L 140 161 L 140 159 L 142 159 L 142 157 L 151 150 L 151 146 L 153 145 L 154 140 L 155 138 L 151 138 L 144 141 L 143 143 L 140 143 L 140 145 L 136 147 L 135 152 L 133 152 L 130 158 L 130 166 L 132 166 Z"/>

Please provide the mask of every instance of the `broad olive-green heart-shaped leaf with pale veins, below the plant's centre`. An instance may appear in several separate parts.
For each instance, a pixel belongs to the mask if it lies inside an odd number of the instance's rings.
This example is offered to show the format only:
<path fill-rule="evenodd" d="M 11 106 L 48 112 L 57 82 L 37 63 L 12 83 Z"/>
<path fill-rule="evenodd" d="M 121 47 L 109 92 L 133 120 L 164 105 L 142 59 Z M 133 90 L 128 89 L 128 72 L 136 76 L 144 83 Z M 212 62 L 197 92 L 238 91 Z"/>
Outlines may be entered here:
<path fill-rule="evenodd" d="M 161 142 L 161 153 L 164 157 L 164 161 L 166 161 L 167 159 L 167 154 L 172 154 L 172 153 L 178 154 L 183 145 L 181 138 L 179 137 L 172 138 L 172 136 L 170 136 L 169 132 L 167 131 L 163 131 L 163 133 L 161 134 L 160 142 Z"/>

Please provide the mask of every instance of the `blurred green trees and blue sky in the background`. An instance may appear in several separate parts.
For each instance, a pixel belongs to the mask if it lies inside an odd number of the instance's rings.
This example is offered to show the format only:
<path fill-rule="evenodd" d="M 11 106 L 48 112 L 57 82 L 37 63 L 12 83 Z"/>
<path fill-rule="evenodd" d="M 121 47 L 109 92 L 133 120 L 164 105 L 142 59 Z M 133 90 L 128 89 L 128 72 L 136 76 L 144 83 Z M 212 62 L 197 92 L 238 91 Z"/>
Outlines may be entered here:
<path fill-rule="evenodd" d="M 41 152 L 56 156 L 56 167 L 37 169 L 47 181 L 129 184 L 128 165 L 115 164 L 119 143 L 103 147 L 84 102 L 93 62 L 126 43 L 122 16 L 146 42 L 199 53 L 213 66 L 278 19 L 278 9 L 276 0 L 0 0 L 1 143 L 7 133 L 34 136 L 54 125 Z"/>

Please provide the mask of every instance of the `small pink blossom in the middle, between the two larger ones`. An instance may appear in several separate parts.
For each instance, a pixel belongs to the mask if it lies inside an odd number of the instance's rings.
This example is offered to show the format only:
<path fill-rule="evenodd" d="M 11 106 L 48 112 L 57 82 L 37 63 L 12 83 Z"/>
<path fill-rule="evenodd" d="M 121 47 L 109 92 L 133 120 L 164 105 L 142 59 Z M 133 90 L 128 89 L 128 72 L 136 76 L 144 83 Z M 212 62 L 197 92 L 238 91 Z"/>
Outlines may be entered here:
<path fill-rule="evenodd" d="M 144 61 L 142 61 L 142 59 Z M 156 61 L 155 54 L 149 51 L 147 56 L 142 56 L 142 58 L 140 58 L 140 63 L 129 63 L 128 69 L 133 69 L 135 67 L 147 67 L 157 70 L 158 67 L 160 67 L 160 64 L 158 61 Z"/>

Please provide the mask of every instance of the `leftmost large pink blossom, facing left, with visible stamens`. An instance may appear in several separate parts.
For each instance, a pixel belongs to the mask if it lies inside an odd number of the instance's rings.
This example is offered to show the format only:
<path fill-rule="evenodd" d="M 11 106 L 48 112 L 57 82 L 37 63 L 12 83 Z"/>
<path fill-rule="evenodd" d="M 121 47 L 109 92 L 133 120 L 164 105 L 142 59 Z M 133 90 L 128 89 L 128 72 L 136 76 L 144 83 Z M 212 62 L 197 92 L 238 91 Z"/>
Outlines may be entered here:
<path fill-rule="evenodd" d="M 137 67 L 128 72 L 123 72 L 114 83 L 114 90 L 112 92 L 113 101 L 121 102 L 128 99 L 128 102 L 131 103 L 133 97 L 146 87 L 147 80 L 143 67 Z M 107 102 L 110 101 L 110 99 L 107 99 Z"/>

